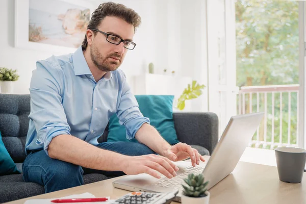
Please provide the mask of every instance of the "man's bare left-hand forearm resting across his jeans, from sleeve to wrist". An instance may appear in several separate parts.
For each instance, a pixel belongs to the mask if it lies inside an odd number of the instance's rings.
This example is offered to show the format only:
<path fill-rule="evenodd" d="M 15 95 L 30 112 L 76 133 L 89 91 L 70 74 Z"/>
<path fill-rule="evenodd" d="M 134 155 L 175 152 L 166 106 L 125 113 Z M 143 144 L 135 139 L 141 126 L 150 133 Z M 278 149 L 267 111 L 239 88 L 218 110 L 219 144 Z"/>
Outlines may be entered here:
<path fill-rule="evenodd" d="M 107 171 L 122 170 L 120 164 L 127 157 L 100 149 L 71 135 L 59 135 L 53 138 L 47 150 L 50 158 Z"/>

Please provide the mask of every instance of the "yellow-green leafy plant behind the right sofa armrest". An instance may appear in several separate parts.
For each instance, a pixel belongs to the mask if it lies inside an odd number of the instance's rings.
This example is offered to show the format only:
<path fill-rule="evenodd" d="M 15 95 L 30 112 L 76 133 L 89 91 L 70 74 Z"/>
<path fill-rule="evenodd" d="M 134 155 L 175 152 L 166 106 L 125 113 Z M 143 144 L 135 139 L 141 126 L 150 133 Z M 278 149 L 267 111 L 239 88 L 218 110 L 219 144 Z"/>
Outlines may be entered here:
<path fill-rule="evenodd" d="M 199 97 L 203 93 L 202 89 L 204 87 L 205 85 L 199 85 L 196 81 L 192 81 L 192 86 L 188 84 L 188 87 L 177 101 L 177 108 L 182 111 L 185 108 L 185 100 Z"/>

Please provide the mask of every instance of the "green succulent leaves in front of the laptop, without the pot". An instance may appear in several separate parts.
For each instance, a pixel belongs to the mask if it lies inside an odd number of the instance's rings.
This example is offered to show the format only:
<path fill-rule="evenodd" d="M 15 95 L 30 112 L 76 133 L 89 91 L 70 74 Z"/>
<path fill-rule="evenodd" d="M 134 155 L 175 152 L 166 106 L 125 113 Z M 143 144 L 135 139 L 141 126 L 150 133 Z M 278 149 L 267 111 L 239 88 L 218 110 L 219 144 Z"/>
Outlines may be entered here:
<path fill-rule="evenodd" d="M 184 179 L 185 183 L 188 184 L 188 187 L 183 185 L 183 194 L 188 197 L 205 197 L 208 194 L 207 184 L 208 181 L 204 183 L 204 177 L 202 174 L 194 175 L 193 173 L 188 174 L 188 178 Z"/>

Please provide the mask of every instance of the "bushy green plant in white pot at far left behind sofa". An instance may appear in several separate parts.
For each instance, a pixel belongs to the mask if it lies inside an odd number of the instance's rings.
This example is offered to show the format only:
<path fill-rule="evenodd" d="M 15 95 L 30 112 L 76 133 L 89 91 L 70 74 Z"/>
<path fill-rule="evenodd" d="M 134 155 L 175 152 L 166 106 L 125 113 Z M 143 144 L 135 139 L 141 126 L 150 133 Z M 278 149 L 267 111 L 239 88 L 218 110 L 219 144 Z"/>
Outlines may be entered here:
<path fill-rule="evenodd" d="M 0 67 L 0 88 L 2 93 L 13 93 L 14 81 L 19 79 L 17 70 Z"/>

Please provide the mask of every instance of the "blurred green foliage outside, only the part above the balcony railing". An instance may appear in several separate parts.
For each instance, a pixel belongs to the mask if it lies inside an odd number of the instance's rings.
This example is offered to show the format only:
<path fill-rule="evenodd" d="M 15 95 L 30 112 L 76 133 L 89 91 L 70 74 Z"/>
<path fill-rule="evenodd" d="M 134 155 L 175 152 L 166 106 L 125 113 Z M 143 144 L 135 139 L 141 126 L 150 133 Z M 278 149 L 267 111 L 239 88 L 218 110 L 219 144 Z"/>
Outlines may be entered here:
<path fill-rule="evenodd" d="M 298 84 L 298 2 L 238 0 L 237 86 Z"/>

